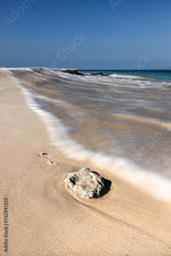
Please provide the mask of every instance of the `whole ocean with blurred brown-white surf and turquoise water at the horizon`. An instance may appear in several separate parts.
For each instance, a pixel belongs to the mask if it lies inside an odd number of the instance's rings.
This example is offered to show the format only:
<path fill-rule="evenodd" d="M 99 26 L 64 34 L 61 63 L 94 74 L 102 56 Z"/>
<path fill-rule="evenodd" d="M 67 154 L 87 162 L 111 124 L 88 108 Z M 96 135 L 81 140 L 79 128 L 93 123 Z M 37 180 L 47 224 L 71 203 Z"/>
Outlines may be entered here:
<path fill-rule="evenodd" d="M 170 201 L 171 70 L 7 70 L 68 158 Z"/>

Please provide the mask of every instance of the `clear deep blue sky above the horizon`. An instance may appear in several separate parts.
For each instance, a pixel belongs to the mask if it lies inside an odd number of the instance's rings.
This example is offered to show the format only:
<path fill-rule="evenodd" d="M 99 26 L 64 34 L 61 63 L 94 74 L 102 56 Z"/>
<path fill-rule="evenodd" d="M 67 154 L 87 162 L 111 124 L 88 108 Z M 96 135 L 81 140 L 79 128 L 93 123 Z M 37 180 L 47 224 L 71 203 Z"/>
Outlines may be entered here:
<path fill-rule="evenodd" d="M 171 69 L 170 13 L 170 0 L 1 0 L 0 67 Z"/>

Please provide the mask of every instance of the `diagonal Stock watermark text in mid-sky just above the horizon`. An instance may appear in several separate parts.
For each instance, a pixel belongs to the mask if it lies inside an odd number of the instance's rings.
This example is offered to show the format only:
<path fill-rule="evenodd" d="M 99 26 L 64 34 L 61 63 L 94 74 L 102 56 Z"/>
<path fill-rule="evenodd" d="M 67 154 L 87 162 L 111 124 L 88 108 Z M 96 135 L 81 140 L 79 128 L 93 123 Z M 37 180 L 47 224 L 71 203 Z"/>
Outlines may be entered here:
<path fill-rule="evenodd" d="M 82 33 L 74 34 L 75 38 L 72 41 L 72 44 L 69 44 L 67 48 L 62 48 L 60 51 L 57 52 L 57 57 L 60 59 L 60 61 L 65 61 L 67 59 L 67 56 L 70 56 L 72 52 L 75 51 L 76 47 L 80 46 L 84 40 L 87 39 L 87 37 L 82 36 Z M 47 68 L 57 69 L 59 67 L 59 63 L 57 60 L 51 61 L 51 66 L 48 66 Z"/>

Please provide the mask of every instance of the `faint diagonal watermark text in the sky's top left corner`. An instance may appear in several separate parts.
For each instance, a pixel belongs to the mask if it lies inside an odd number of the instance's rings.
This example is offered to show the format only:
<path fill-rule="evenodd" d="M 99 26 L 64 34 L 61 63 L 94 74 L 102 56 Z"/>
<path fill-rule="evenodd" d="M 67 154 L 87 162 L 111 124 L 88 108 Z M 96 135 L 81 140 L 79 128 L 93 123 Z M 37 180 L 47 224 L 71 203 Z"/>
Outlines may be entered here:
<path fill-rule="evenodd" d="M 26 9 L 28 9 L 31 5 L 31 3 L 34 3 L 36 0 L 20 0 L 19 3 L 21 5 L 19 5 L 16 10 L 14 10 L 13 8 L 11 9 L 11 17 L 4 17 L 5 23 L 7 25 L 7 27 L 10 27 L 10 23 L 14 23 L 16 19 L 19 18 L 19 16 L 21 14 L 23 14 L 25 12 Z"/>

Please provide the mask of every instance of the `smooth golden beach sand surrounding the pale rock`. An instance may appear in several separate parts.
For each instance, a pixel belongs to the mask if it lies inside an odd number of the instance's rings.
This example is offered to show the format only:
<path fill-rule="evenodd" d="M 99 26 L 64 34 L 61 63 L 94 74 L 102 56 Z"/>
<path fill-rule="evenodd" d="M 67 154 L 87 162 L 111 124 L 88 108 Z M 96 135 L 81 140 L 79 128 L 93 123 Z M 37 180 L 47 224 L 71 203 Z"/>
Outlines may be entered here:
<path fill-rule="evenodd" d="M 170 205 L 89 163 L 63 156 L 49 144 L 44 122 L 6 72 L 0 72 L 0 254 L 171 255 Z M 111 180 L 109 193 L 81 199 L 67 191 L 65 178 L 81 167 Z M 9 204 L 8 253 L 3 248 L 4 197 Z"/>

